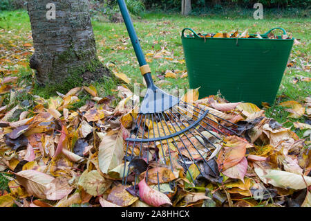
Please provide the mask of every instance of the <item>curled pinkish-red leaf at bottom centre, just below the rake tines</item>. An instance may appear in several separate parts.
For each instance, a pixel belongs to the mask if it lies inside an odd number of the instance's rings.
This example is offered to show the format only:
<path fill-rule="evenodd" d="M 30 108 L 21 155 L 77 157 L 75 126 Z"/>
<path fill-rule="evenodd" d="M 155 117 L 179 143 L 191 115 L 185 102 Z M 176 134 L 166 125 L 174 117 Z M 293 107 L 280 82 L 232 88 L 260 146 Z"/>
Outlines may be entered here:
<path fill-rule="evenodd" d="M 151 206 L 161 206 L 163 204 L 170 204 L 171 200 L 164 193 L 153 190 L 150 186 L 147 185 L 146 181 L 142 181 L 138 184 L 140 188 L 140 198 L 147 204 Z"/>

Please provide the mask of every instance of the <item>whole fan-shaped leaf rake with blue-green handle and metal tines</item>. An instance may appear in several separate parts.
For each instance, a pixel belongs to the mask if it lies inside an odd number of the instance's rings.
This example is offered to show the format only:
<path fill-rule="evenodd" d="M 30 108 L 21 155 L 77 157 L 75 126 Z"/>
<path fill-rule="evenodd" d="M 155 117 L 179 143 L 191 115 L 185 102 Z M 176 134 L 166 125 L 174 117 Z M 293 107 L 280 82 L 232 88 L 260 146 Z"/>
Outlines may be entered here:
<path fill-rule="evenodd" d="M 180 163 L 186 171 L 188 171 L 192 182 L 196 184 L 194 175 L 191 174 L 189 170 L 189 163 L 194 163 L 200 175 L 203 175 L 202 169 L 198 163 L 206 163 L 207 166 L 209 166 L 209 163 L 207 163 L 205 159 L 206 157 L 203 155 L 211 154 L 210 149 L 217 148 L 216 145 L 210 141 L 210 136 L 223 142 L 220 136 L 218 136 L 218 134 L 225 135 L 222 130 L 227 130 L 236 134 L 236 132 L 229 127 L 218 123 L 218 120 L 229 123 L 230 125 L 235 124 L 209 112 L 209 109 L 205 108 L 203 105 L 186 103 L 156 87 L 151 77 L 151 69 L 146 62 L 139 39 L 135 33 L 126 3 L 124 0 L 118 0 L 117 2 L 120 6 L 124 23 L 138 58 L 140 71 L 147 84 L 147 94 L 140 105 L 140 112 L 135 119 L 135 129 L 131 132 L 131 138 L 126 139 L 122 184 L 125 185 L 129 182 L 128 177 L 130 170 L 126 172 L 126 167 L 131 166 L 131 163 L 126 166 L 126 161 L 145 159 L 145 161 L 149 163 L 149 150 L 151 149 L 162 151 L 162 161 L 164 164 L 170 165 L 172 172 L 174 168 L 171 155 L 173 152 L 176 152 Z M 209 134 L 209 136 L 207 136 L 207 134 Z M 170 143 L 173 146 L 170 147 Z M 200 148 L 198 148 L 198 145 L 200 145 Z M 196 151 L 195 155 L 194 151 Z M 158 154 L 153 155 L 156 161 L 160 161 Z M 211 166 L 209 166 L 209 168 L 211 168 Z M 211 170 L 216 174 L 213 168 L 211 168 Z M 146 177 L 148 182 L 148 170 Z M 134 188 L 137 178 L 138 177 L 135 175 Z M 157 179 L 160 191 L 158 174 Z"/>

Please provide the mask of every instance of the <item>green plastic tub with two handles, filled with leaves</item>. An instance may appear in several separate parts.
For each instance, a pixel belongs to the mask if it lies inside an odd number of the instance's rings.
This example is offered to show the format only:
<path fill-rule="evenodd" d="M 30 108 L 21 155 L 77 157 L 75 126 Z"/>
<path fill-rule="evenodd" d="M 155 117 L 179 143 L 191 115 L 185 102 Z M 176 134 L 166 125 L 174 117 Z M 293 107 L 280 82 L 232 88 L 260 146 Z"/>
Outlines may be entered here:
<path fill-rule="evenodd" d="M 272 105 L 294 44 L 294 38 L 268 39 L 274 29 L 286 35 L 273 28 L 263 39 L 204 38 L 182 30 L 190 88 L 200 87 L 200 98 L 220 91 L 230 102 Z"/>

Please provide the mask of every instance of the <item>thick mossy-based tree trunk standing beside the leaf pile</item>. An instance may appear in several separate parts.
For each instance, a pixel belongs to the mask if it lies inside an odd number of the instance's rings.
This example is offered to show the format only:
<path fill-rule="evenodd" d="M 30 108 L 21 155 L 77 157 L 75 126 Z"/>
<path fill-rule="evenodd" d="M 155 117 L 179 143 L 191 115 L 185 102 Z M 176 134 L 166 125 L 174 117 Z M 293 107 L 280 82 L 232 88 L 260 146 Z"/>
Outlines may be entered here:
<path fill-rule="evenodd" d="M 28 15 L 35 47 L 30 67 L 39 85 L 110 76 L 97 58 L 88 0 L 30 0 Z"/>

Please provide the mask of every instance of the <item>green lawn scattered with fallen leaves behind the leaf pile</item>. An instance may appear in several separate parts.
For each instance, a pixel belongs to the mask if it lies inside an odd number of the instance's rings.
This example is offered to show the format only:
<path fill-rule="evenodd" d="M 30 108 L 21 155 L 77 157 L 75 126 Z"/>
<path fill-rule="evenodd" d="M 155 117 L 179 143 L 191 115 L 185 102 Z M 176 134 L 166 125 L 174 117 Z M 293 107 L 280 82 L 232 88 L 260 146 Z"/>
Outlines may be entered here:
<path fill-rule="evenodd" d="M 180 78 L 186 72 L 186 64 L 182 51 L 180 33 L 182 28 L 189 27 L 198 33 L 229 33 L 232 30 L 249 30 L 249 33 L 265 33 L 270 28 L 282 27 L 299 39 L 301 44 L 295 45 L 290 58 L 292 67 L 286 69 L 276 102 L 266 108 L 266 115 L 284 123 L 285 127 L 292 126 L 292 122 L 308 121 L 306 116 L 298 119 L 288 118 L 288 112 L 279 103 L 286 100 L 303 100 L 310 96 L 310 81 L 301 79 L 311 78 L 310 74 L 310 19 L 281 18 L 254 20 L 230 19 L 221 17 L 181 17 L 179 15 L 164 15 L 147 13 L 141 19 L 135 18 L 135 28 L 140 37 L 142 48 L 147 54 L 147 60 L 153 71 L 153 76 L 162 81 L 166 89 L 187 89 L 187 78 Z M 115 24 L 102 21 L 101 18 L 93 19 L 93 29 L 97 40 L 97 51 L 100 60 L 117 73 L 125 73 L 131 79 L 128 87 L 133 88 L 135 83 L 142 84 L 142 77 L 138 69 L 138 62 L 131 47 L 124 24 Z M 33 72 L 28 67 L 28 60 L 33 48 L 31 28 L 26 11 L 0 12 L 0 76 L 10 71 L 19 76 L 19 81 L 24 80 L 25 87 L 32 86 Z M 162 50 L 166 51 L 166 54 Z M 162 51 L 162 52 L 161 52 Z M 157 53 L 162 55 L 158 58 Z M 224 52 L 225 53 L 225 52 Z M 156 57 L 156 58 L 154 58 Z M 2 71 L 2 73 L 1 73 Z M 6 72 L 7 71 L 7 72 Z M 174 71 L 178 78 L 164 78 L 166 71 Z M 208 80 L 208 79 L 207 79 Z M 164 83 L 163 83 L 164 82 Z M 109 86 L 109 85 L 108 85 Z M 96 83 L 99 96 L 115 93 L 115 85 L 110 88 L 104 83 Z M 109 88 L 109 89 L 107 89 Z M 263 85 L 263 90 L 265 85 Z M 64 91 L 62 91 L 64 92 Z M 65 91 L 66 92 L 66 91 Z M 54 91 L 55 93 L 55 91 Z M 35 87 L 32 95 L 53 96 L 57 94 L 46 93 L 44 89 Z M 20 101 L 31 99 L 29 94 L 21 96 Z M 83 101 L 87 97 L 82 98 Z M 10 100 L 10 94 L 5 95 L 4 103 Z M 246 101 L 246 100 L 245 100 Z M 295 130 L 300 137 L 303 131 Z M 0 179 L 3 179 L 0 177 Z M 0 184 L 2 184 L 1 182 Z M 1 188 L 0 188 L 1 190 Z"/>

